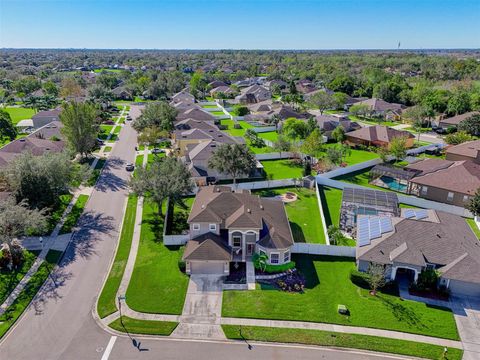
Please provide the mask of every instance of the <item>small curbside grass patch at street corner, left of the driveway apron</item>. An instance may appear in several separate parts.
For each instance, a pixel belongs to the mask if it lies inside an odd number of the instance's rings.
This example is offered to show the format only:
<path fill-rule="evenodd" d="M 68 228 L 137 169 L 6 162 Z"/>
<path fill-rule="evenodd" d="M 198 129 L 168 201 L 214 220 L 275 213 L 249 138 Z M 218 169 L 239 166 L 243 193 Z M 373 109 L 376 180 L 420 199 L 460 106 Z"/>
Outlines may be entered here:
<path fill-rule="evenodd" d="M 108 326 L 130 334 L 169 336 L 177 325 L 178 323 L 171 321 L 137 320 L 123 316 L 122 321 L 117 319 Z"/>

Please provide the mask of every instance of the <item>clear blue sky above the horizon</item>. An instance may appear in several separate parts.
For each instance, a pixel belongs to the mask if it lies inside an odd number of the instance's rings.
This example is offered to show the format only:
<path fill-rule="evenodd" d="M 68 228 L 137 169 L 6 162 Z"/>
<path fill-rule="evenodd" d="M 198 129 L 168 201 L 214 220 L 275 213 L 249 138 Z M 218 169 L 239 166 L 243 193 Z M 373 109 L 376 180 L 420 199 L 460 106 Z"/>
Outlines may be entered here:
<path fill-rule="evenodd" d="M 0 0 L 0 47 L 480 48 L 479 0 Z"/>

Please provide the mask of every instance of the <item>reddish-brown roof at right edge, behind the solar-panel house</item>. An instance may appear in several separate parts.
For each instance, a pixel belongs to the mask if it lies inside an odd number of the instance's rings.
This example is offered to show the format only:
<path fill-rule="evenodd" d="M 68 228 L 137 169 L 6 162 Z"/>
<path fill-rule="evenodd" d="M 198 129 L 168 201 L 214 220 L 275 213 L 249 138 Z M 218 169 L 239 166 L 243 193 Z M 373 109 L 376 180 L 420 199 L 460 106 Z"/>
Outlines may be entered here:
<path fill-rule="evenodd" d="M 446 168 L 414 177 L 410 182 L 473 196 L 480 188 L 480 165 L 470 160 L 455 161 Z"/>

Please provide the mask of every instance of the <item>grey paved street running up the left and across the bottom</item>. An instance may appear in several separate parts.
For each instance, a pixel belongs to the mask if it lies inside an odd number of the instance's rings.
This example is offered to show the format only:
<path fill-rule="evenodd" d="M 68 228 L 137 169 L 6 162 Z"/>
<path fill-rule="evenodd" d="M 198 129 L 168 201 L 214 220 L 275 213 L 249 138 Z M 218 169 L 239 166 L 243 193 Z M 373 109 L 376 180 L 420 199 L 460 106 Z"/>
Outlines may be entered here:
<path fill-rule="evenodd" d="M 134 112 L 138 109 L 132 109 Z M 135 116 L 135 114 L 133 114 Z M 129 174 L 125 162 L 134 162 L 136 133 L 126 125 L 115 145 L 107 167 L 86 206 L 81 230 L 67 248 L 51 281 L 40 290 L 24 316 L 0 343 L 0 358 L 15 360 L 56 359 L 394 359 L 386 355 L 365 355 L 321 348 L 294 348 L 255 345 L 248 350 L 239 343 L 205 343 L 178 340 L 142 339 L 141 349 L 126 336 L 118 337 L 111 353 L 106 352 L 110 333 L 92 317 L 96 296 L 115 252 L 123 218 Z M 107 355 L 110 355 L 109 357 Z"/>

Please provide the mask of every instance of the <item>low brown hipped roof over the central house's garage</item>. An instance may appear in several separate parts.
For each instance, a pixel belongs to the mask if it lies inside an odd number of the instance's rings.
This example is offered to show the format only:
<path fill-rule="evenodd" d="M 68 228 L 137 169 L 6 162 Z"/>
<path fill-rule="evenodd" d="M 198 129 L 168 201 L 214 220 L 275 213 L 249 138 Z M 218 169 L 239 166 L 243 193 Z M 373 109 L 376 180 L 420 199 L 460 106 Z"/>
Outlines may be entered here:
<path fill-rule="evenodd" d="M 183 260 L 230 261 L 232 249 L 224 244 L 220 236 L 207 233 L 187 242 Z"/>

